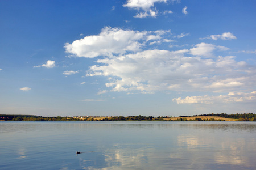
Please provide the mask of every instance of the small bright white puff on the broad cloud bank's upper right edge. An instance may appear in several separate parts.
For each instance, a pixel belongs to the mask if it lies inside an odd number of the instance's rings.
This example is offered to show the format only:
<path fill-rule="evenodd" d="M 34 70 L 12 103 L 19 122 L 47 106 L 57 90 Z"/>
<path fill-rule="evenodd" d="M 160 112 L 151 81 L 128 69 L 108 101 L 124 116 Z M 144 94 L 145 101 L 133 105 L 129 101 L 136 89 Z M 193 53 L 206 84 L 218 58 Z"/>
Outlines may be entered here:
<path fill-rule="evenodd" d="M 190 49 L 190 54 L 194 56 L 204 56 L 204 57 L 213 57 L 213 51 L 214 50 L 228 50 L 229 48 L 226 48 L 225 46 L 216 46 L 213 44 L 207 44 L 207 43 L 200 43 L 196 44 L 194 48 Z"/>

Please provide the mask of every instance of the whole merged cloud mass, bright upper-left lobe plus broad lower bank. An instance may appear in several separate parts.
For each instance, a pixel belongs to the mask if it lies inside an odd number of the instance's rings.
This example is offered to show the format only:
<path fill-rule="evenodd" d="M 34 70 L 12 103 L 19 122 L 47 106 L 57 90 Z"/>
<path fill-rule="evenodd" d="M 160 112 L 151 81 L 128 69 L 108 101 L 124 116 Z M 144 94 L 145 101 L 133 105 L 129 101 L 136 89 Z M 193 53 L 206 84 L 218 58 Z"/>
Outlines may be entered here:
<path fill-rule="evenodd" d="M 234 56 L 217 57 L 217 52 L 228 50 L 225 46 L 200 43 L 178 51 L 144 50 L 154 47 L 150 46 L 153 44 L 171 42 L 167 39 L 170 33 L 170 30 L 139 32 L 105 27 L 99 35 L 84 37 L 65 47 L 79 57 L 105 56 L 86 71 L 86 76 L 108 78 L 105 89 L 98 94 L 253 89 L 256 67 L 245 61 L 237 62 Z"/>

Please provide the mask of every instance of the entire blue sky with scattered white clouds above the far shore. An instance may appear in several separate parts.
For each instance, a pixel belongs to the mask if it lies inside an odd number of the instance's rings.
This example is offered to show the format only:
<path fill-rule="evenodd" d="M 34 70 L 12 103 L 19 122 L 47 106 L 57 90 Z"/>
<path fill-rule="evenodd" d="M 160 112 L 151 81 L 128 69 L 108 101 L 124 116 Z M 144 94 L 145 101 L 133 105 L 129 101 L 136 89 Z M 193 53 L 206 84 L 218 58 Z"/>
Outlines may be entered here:
<path fill-rule="evenodd" d="M 0 113 L 255 113 L 255 1 L 0 1 Z"/>

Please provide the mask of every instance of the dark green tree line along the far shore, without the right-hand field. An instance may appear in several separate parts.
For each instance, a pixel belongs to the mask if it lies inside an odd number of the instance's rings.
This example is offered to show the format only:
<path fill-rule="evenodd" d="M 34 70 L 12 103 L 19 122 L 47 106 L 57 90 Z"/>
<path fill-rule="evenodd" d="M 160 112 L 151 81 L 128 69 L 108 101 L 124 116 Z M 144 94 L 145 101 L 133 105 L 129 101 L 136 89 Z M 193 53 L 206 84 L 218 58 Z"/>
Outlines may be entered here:
<path fill-rule="evenodd" d="M 202 114 L 202 115 L 193 115 L 193 116 L 219 116 L 224 118 L 234 118 L 238 121 L 256 121 L 256 114 L 254 113 L 243 113 L 243 114 L 226 114 L 226 113 L 211 113 L 211 114 Z M 187 121 L 189 117 L 192 116 L 179 116 L 177 121 Z M 103 118 L 100 121 L 163 121 L 164 118 L 169 118 L 168 116 L 114 116 L 109 118 Z M 0 114 L 0 120 L 4 121 L 98 121 L 96 118 L 88 118 L 88 119 L 80 119 L 80 118 L 72 118 L 72 117 L 43 117 L 43 116 L 35 116 L 35 115 L 19 115 L 19 114 Z M 195 121 L 221 121 L 216 120 L 214 118 L 201 119 L 195 118 Z"/>

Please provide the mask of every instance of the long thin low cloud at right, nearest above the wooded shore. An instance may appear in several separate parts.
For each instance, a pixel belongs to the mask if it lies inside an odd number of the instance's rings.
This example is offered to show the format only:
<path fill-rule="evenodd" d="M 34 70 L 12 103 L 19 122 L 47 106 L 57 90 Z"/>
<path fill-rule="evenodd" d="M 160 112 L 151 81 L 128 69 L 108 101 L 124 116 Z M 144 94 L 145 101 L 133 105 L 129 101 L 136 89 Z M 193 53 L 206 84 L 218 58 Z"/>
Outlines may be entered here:
<path fill-rule="evenodd" d="M 245 92 L 229 92 L 227 95 L 219 96 L 187 96 L 184 99 L 174 98 L 172 101 L 177 104 L 191 104 L 191 103 L 236 103 L 236 102 L 254 102 L 256 100 L 256 91 L 245 93 Z"/>

